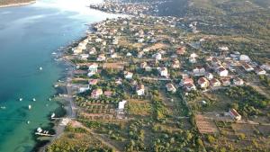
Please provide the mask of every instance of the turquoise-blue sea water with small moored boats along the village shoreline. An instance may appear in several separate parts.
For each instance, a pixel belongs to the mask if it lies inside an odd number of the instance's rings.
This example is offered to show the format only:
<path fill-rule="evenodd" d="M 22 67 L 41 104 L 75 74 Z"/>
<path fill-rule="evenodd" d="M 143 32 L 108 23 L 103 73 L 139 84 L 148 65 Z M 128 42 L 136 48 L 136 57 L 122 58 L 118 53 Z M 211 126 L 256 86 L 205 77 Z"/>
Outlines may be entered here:
<path fill-rule="evenodd" d="M 31 151 L 35 144 L 32 131 L 48 124 L 47 116 L 58 107 L 48 99 L 55 94 L 53 84 L 65 68 L 51 53 L 84 36 L 85 23 L 113 17 L 80 2 L 40 0 L 0 8 L 0 106 L 5 107 L 0 109 L 0 152 Z"/>

